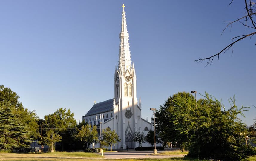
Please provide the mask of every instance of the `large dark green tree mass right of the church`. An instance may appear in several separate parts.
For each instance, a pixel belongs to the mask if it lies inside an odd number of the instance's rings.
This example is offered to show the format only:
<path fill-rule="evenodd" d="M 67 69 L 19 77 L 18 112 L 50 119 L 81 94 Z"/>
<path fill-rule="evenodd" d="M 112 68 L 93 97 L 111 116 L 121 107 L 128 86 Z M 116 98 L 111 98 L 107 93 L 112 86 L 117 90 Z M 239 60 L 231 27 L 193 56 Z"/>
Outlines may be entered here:
<path fill-rule="evenodd" d="M 182 92 L 170 97 L 165 108 L 160 107 L 157 113 L 159 116 L 162 111 L 168 113 L 169 120 L 165 120 L 165 124 L 173 126 L 168 139 L 188 149 L 189 157 L 241 160 L 247 157 L 250 147 L 244 144 L 246 125 L 237 115 L 243 115 L 246 107 L 238 108 L 234 98 L 230 99 L 230 104 L 228 110 L 221 111 L 224 109 L 221 102 L 208 93 L 195 102 L 194 96 Z M 157 123 L 160 121 L 158 119 Z"/>

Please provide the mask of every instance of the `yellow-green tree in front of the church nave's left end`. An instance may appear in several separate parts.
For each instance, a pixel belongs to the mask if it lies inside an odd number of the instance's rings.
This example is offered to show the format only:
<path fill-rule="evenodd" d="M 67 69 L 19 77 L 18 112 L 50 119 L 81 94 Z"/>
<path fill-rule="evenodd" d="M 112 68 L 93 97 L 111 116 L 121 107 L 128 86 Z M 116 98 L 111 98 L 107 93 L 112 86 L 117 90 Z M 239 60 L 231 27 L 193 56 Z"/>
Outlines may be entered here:
<path fill-rule="evenodd" d="M 89 124 L 82 125 L 82 129 L 79 130 L 76 128 L 76 131 L 77 133 L 73 134 L 73 137 L 76 140 L 81 141 L 85 145 L 86 149 L 88 149 L 89 145 L 91 145 L 93 142 L 98 143 L 99 141 L 96 125 L 93 127 L 91 127 Z"/>

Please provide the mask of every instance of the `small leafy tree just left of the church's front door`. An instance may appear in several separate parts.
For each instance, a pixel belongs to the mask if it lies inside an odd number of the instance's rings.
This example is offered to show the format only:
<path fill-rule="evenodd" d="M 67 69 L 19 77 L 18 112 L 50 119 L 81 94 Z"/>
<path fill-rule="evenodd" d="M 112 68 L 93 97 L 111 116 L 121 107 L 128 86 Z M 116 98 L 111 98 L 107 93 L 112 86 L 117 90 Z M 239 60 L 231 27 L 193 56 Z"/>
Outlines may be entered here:
<path fill-rule="evenodd" d="M 116 144 L 117 142 L 120 142 L 119 136 L 117 135 L 116 131 L 111 131 L 110 128 L 103 129 L 102 131 L 102 141 L 101 144 L 104 142 L 110 146 L 110 151 L 112 151 L 113 144 Z"/>

